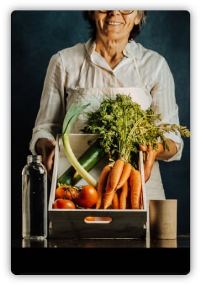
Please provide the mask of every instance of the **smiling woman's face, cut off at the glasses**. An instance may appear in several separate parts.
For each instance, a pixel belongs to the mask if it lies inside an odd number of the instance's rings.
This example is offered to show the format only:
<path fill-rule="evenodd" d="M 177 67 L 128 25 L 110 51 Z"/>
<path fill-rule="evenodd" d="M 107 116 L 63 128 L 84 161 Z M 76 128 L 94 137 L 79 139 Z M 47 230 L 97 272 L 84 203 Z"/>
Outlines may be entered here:
<path fill-rule="evenodd" d="M 95 11 L 94 20 L 97 27 L 97 38 L 128 40 L 134 25 L 139 24 L 140 17 L 138 11 L 128 15 L 123 15 L 119 11 L 109 11 L 108 13 Z"/>

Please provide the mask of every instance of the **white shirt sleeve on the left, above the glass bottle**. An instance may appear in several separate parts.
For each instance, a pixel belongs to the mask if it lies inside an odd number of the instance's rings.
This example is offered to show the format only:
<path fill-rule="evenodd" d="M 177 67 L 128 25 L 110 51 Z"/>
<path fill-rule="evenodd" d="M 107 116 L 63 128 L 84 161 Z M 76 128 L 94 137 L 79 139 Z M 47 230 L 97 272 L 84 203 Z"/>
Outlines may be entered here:
<path fill-rule="evenodd" d="M 64 78 L 65 69 L 61 55 L 56 53 L 49 62 L 30 141 L 30 151 L 33 155 L 36 154 L 35 144 L 38 139 L 55 140 L 57 133 L 61 131 L 65 116 Z"/>

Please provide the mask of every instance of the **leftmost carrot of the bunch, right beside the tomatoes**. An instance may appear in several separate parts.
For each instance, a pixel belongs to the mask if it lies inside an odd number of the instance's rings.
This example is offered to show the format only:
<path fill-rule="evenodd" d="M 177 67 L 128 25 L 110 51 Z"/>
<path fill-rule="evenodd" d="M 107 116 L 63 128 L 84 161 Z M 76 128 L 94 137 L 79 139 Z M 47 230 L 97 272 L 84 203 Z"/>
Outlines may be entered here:
<path fill-rule="evenodd" d="M 101 171 L 101 175 L 100 175 L 98 185 L 97 185 L 98 200 L 96 203 L 96 209 L 99 209 L 101 207 L 102 195 L 105 191 L 106 181 L 107 181 L 110 170 L 111 170 L 111 167 L 109 165 L 106 165 L 103 167 Z"/>

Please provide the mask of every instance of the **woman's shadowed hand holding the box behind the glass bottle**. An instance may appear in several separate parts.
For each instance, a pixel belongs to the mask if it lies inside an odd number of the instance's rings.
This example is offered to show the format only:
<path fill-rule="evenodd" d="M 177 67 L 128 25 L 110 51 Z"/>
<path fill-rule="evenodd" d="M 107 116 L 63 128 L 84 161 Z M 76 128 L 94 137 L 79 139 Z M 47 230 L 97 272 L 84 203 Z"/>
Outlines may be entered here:
<path fill-rule="evenodd" d="M 51 180 L 53 173 L 53 161 L 55 154 L 55 141 L 39 139 L 36 142 L 36 152 L 42 156 L 44 166 L 47 168 L 48 178 Z"/>

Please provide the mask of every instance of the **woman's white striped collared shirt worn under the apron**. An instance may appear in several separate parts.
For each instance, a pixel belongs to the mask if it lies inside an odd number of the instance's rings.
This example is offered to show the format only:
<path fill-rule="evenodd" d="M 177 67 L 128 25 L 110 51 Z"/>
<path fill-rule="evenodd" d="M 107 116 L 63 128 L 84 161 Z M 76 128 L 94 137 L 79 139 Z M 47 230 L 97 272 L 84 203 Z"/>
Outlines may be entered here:
<path fill-rule="evenodd" d="M 88 40 L 85 44 L 78 43 L 51 57 L 30 142 L 33 154 L 36 154 L 35 143 L 39 138 L 55 140 L 56 134 L 61 132 L 68 108 L 67 99 L 78 85 L 81 88 L 143 87 L 152 96 L 151 108 L 155 113 L 162 114 L 162 121 L 157 124 L 179 125 L 174 80 L 163 56 L 132 41 L 123 50 L 124 58 L 111 69 L 95 47 L 95 42 Z M 86 64 L 78 81 L 86 56 Z M 135 71 L 134 60 L 141 82 Z M 174 133 L 166 133 L 165 136 L 175 142 L 178 149 L 166 161 L 180 160 L 183 150 L 181 136 Z"/>

